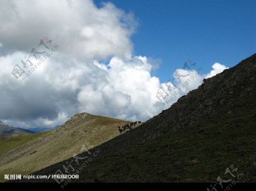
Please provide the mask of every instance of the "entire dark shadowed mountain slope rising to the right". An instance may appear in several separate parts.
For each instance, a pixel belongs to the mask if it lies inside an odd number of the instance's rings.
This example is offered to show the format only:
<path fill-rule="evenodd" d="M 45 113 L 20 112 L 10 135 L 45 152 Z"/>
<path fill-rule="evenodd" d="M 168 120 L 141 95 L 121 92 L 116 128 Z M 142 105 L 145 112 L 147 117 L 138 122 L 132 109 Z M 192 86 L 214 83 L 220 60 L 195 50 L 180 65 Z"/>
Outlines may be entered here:
<path fill-rule="evenodd" d="M 256 54 L 204 80 L 139 128 L 90 150 L 100 154 L 82 169 L 82 160 L 72 163 L 81 171 L 74 181 L 217 182 L 218 176 L 236 180 L 224 175 L 234 165 L 235 175 L 243 173 L 239 181 L 256 182 L 255 77 Z M 64 172 L 71 160 L 33 174 Z"/>

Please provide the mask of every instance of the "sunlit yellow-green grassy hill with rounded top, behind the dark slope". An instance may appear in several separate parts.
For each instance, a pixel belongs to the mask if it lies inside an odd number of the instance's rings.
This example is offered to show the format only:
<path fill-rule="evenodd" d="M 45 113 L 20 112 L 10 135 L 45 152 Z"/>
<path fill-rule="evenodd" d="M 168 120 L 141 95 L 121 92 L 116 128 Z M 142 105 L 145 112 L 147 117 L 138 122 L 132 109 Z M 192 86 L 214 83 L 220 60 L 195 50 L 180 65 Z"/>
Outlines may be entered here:
<path fill-rule="evenodd" d="M 0 158 L 0 181 L 5 173 L 26 175 L 79 154 L 119 135 L 117 126 L 129 121 L 77 114 L 61 128 L 42 134 Z"/>

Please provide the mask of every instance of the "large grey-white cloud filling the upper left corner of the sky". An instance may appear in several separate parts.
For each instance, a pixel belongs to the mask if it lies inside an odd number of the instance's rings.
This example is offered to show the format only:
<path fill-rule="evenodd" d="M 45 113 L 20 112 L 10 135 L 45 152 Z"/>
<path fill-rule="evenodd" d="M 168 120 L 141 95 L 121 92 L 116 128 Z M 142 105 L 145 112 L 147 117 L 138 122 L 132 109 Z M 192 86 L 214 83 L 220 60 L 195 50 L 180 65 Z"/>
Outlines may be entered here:
<path fill-rule="evenodd" d="M 85 1 L 1 1 L 0 41 L 10 50 L 30 50 L 43 36 L 76 58 L 129 56 L 137 23 L 112 3 Z"/>

